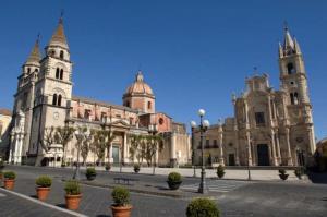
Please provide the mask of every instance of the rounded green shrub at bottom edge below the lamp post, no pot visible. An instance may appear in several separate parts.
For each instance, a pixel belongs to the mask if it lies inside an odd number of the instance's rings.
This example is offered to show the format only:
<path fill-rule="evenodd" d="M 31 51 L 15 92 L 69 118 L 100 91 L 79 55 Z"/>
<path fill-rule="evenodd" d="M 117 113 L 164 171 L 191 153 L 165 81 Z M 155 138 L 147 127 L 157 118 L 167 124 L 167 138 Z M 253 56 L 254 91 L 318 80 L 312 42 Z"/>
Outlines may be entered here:
<path fill-rule="evenodd" d="M 194 198 L 186 207 L 187 217 L 219 217 L 219 209 L 214 201 L 209 198 Z"/>

